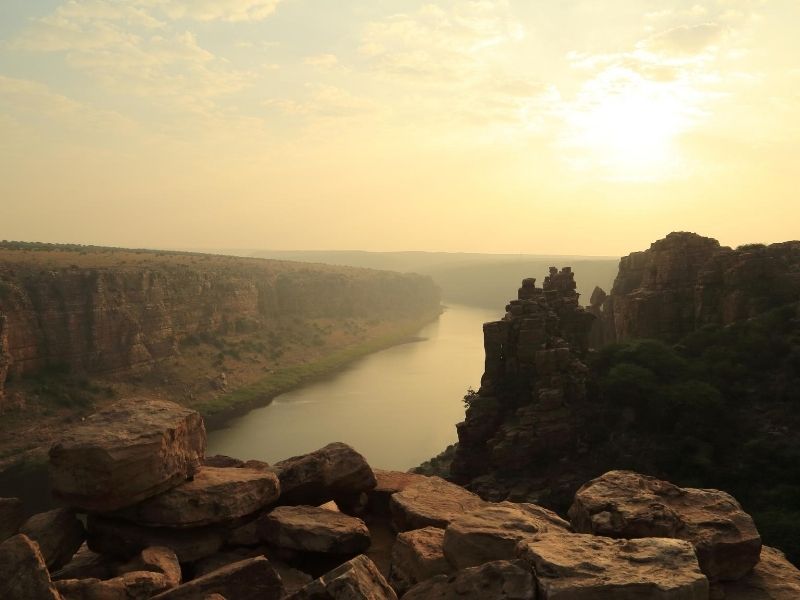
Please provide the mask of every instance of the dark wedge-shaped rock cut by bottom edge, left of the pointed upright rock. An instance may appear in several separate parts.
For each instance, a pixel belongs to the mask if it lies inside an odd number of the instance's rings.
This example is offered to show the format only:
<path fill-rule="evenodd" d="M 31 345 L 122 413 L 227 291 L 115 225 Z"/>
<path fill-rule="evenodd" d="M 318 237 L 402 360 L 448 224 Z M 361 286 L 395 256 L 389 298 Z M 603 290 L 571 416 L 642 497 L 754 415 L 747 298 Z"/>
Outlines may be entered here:
<path fill-rule="evenodd" d="M 217 569 L 153 597 L 153 600 L 196 600 L 220 594 L 231 600 L 280 600 L 281 578 L 263 556 Z"/>

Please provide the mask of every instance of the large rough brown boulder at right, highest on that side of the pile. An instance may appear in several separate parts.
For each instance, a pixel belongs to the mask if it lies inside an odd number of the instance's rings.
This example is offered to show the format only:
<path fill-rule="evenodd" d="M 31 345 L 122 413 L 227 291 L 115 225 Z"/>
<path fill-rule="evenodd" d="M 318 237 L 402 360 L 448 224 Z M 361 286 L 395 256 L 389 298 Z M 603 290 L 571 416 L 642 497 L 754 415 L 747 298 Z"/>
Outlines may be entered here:
<path fill-rule="evenodd" d="M 687 540 L 712 581 L 740 579 L 761 553 L 753 519 L 729 494 L 679 488 L 631 471 L 610 471 L 581 487 L 569 517 L 583 533 Z"/>

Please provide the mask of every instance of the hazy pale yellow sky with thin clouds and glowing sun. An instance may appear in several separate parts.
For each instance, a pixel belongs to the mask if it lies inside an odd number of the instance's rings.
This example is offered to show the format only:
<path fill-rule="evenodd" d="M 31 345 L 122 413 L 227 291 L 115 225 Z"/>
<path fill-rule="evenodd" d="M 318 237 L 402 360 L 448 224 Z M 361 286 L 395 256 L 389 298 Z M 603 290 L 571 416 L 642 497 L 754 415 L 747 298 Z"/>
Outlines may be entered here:
<path fill-rule="evenodd" d="M 0 0 L 0 238 L 800 237 L 798 0 Z"/>

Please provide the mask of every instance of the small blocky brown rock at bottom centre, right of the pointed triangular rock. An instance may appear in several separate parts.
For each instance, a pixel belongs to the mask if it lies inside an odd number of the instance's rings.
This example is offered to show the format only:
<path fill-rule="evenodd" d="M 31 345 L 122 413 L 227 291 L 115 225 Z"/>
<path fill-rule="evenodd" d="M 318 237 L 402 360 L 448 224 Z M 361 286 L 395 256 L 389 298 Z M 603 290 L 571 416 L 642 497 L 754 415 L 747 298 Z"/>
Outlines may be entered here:
<path fill-rule="evenodd" d="M 438 527 L 413 529 L 397 536 L 389 583 L 398 594 L 421 581 L 453 571 L 444 557 L 443 543 L 444 530 Z"/>

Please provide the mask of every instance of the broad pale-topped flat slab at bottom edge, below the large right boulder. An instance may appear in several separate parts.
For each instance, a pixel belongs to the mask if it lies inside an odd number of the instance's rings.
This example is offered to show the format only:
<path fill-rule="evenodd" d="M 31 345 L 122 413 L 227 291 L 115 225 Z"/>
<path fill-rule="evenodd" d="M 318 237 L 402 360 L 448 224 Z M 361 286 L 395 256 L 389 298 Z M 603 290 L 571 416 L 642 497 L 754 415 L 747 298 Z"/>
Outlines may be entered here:
<path fill-rule="evenodd" d="M 689 542 L 544 533 L 520 542 L 540 600 L 708 600 Z"/>

